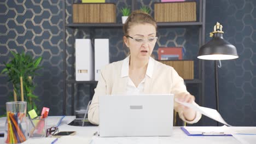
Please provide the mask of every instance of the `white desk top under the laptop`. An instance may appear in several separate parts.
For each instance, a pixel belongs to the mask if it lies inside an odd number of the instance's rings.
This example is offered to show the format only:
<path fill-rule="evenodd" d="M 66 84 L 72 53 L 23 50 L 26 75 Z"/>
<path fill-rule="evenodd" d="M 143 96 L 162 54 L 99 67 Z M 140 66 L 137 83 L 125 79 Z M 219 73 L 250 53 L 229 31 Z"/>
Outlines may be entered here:
<path fill-rule="evenodd" d="M 104 144 L 114 144 L 114 143 L 189 143 L 189 144 L 200 144 L 200 143 L 240 143 L 232 136 L 187 136 L 183 133 L 183 131 L 179 127 L 173 128 L 173 136 L 165 136 L 165 137 L 97 137 L 92 136 L 95 131 L 97 131 L 98 127 L 75 127 L 67 125 L 69 122 L 73 121 L 74 117 L 67 116 L 63 119 L 59 131 L 77 131 L 77 134 L 75 136 L 81 136 L 86 137 L 88 139 L 92 139 L 91 143 L 98 144 L 98 143 L 104 143 Z M 2 120 L 2 121 L 1 121 Z M 5 121 L 5 119 L 0 118 L 0 128 L 1 128 L 1 122 Z M 2 129 L 0 129 L 3 131 Z M 27 141 L 29 142 L 30 139 Z M 45 138 L 40 138 L 40 141 L 44 143 Z M 4 139 L 0 138 L 0 143 L 4 143 Z M 68 142 L 67 142 L 68 143 Z M 81 141 L 83 143 L 83 141 Z M 58 141 L 56 142 L 58 144 Z"/>

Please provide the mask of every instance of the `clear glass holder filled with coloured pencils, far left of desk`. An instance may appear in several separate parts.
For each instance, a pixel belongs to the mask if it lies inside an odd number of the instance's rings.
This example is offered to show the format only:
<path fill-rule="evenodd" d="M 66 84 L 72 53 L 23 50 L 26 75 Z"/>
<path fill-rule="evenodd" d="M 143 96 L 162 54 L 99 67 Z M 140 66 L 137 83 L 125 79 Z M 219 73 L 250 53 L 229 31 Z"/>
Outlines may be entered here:
<path fill-rule="evenodd" d="M 27 102 L 6 103 L 7 120 L 5 122 L 5 143 L 22 143 L 28 138 L 26 119 Z"/>

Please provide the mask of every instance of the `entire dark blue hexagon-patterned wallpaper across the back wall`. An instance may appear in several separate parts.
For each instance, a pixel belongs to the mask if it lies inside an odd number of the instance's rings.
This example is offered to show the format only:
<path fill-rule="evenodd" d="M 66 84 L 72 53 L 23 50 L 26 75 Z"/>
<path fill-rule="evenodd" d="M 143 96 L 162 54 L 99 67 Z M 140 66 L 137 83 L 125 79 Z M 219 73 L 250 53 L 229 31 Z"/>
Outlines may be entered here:
<path fill-rule="evenodd" d="M 160 1 L 160 0 L 159 0 Z M 154 2 L 140 0 L 136 7 L 147 5 L 154 15 Z M 80 2 L 80 1 L 75 1 Z M 126 0 L 106 0 L 117 5 L 117 22 L 121 22 L 119 9 L 124 5 L 131 5 Z M 35 91 L 39 95 L 39 107 L 51 107 L 50 115 L 62 114 L 63 103 L 63 1 L 56 0 L 0 0 L 0 70 L 3 62 L 8 62 L 11 56 L 9 51 L 25 51 L 33 57 L 43 57 L 43 70 L 38 71 L 34 82 Z M 72 0 L 66 1 L 66 23 L 72 23 Z M 256 3 L 245 0 L 206 0 L 206 41 L 208 33 L 218 21 L 223 25 L 224 38 L 237 47 L 238 59 L 222 61 L 219 68 L 219 99 L 220 113 L 231 125 L 256 125 L 256 73 L 253 66 L 256 63 Z M 195 61 L 195 77 L 198 77 L 198 27 L 187 28 L 159 28 L 158 41 L 154 49 L 157 57 L 158 47 L 181 46 L 185 49 L 184 58 Z M 109 38 L 110 62 L 120 61 L 127 55 L 123 45 L 121 28 L 97 29 L 66 29 L 67 77 L 72 79 L 72 64 L 74 63 L 75 38 Z M 205 105 L 214 108 L 214 65 L 211 61 L 205 62 Z M 188 91 L 198 98 L 197 84 L 189 84 Z M 71 85 L 67 85 L 67 115 L 71 114 Z M 5 102 L 8 93 L 13 87 L 5 75 L 0 75 L 0 115 L 4 114 Z M 85 109 L 90 100 L 88 85 L 74 85 L 75 110 Z M 202 124 L 202 123 L 201 123 Z M 215 125 L 209 118 L 203 118 L 203 125 Z"/>

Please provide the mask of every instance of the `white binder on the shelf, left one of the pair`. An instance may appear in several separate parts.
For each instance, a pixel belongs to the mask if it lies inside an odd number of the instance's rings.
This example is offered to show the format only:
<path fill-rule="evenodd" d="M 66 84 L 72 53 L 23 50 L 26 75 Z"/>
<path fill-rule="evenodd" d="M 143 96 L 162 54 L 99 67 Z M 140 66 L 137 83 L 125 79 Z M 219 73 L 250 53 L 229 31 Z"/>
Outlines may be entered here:
<path fill-rule="evenodd" d="M 90 39 L 75 39 L 75 80 L 94 79 L 93 53 Z"/>

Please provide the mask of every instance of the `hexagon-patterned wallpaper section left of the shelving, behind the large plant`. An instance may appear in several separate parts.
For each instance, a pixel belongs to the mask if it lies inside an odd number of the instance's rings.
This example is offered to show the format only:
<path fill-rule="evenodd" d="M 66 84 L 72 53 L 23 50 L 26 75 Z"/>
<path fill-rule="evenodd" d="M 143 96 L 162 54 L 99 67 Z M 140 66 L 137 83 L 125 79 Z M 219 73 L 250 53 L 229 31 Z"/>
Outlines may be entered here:
<path fill-rule="evenodd" d="M 25 51 L 33 57 L 42 56 L 43 70 L 38 71 L 34 93 L 41 107 L 51 106 L 51 112 L 61 114 L 63 95 L 62 1 L 0 1 L 0 70 L 8 62 L 10 50 Z M 13 87 L 7 76 L 0 76 L 0 115 L 4 112 L 8 93 Z"/>

